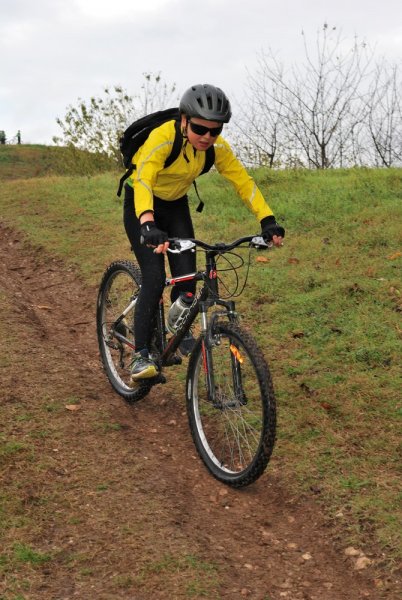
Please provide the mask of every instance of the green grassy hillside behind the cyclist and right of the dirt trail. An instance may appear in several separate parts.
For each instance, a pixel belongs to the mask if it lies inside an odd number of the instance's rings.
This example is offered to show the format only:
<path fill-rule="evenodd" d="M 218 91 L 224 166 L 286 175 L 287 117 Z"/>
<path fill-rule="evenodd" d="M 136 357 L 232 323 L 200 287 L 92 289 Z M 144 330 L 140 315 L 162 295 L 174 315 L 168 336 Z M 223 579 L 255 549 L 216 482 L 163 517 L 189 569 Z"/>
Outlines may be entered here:
<path fill-rule="evenodd" d="M 273 466 L 299 492 L 313 491 L 329 518 L 342 515 L 350 543 L 373 541 L 400 557 L 402 170 L 262 169 L 255 178 L 287 229 L 268 262 L 253 255 L 238 300 L 273 372 Z M 2 218 L 95 283 L 111 260 L 130 256 L 117 180 L 7 179 Z M 202 215 L 190 192 L 198 237 L 258 232 L 217 174 L 198 187 Z"/>

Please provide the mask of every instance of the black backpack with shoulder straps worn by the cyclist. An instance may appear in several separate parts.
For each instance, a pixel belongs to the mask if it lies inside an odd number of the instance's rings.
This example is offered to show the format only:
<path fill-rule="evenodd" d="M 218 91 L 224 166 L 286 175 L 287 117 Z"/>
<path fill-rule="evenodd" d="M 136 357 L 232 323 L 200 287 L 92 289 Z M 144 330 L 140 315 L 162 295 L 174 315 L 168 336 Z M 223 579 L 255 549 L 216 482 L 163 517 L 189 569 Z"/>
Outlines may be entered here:
<path fill-rule="evenodd" d="M 176 135 L 174 138 L 174 142 L 172 145 L 172 149 L 170 151 L 169 156 L 165 161 L 165 168 L 171 165 L 180 155 L 180 151 L 183 146 L 183 134 L 180 129 L 180 112 L 178 108 L 167 108 L 166 110 L 159 110 L 157 112 L 151 113 L 150 115 L 145 115 L 145 117 L 141 117 L 141 119 L 137 119 L 134 123 L 131 123 L 129 127 L 125 130 L 123 135 L 119 140 L 120 152 L 123 158 L 123 164 L 126 167 L 127 171 L 124 173 L 123 177 L 120 179 L 119 189 L 117 190 L 117 195 L 120 197 L 123 189 L 123 184 L 126 179 L 130 177 L 132 172 L 135 170 L 136 165 L 134 165 L 131 161 L 133 159 L 134 154 L 137 150 L 145 143 L 149 134 L 153 129 L 159 127 L 163 123 L 167 121 L 175 121 L 175 130 Z M 214 147 L 208 148 L 205 155 L 205 165 L 200 175 L 207 173 L 215 162 L 215 150 Z M 200 199 L 198 195 L 197 185 L 194 183 L 195 191 L 200 200 L 200 204 L 198 205 L 197 211 L 201 212 L 204 203 Z"/>

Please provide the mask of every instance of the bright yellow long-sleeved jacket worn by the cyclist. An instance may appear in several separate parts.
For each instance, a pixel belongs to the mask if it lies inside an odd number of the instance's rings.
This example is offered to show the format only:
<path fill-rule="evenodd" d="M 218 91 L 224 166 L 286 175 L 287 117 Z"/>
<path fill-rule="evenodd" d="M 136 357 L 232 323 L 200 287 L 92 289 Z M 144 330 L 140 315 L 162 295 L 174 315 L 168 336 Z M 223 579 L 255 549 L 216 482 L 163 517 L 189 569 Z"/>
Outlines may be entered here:
<path fill-rule="evenodd" d="M 197 152 L 184 139 L 179 157 L 165 168 L 165 161 L 170 155 L 175 139 L 174 124 L 174 121 L 168 121 L 155 128 L 133 157 L 132 162 L 136 169 L 128 183 L 134 187 L 137 217 L 147 210 L 153 210 L 153 196 L 166 201 L 184 196 L 204 167 L 205 152 Z M 216 169 L 233 184 L 244 204 L 259 221 L 272 215 L 254 180 L 222 136 L 218 136 L 214 148 Z"/>

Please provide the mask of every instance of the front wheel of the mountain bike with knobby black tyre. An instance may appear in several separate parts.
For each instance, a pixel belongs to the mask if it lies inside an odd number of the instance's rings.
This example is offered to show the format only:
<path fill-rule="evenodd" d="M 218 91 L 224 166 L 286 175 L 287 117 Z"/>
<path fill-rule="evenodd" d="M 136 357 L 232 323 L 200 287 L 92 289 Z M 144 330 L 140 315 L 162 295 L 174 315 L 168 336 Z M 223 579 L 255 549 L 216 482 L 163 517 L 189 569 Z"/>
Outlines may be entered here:
<path fill-rule="evenodd" d="M 217 323 L 191 354 L 186 390 L 194 444 L 212 475 L 233 487 L 258 479 L 275 443 L 276 405 L 268 365 L 251 335 Z"/>

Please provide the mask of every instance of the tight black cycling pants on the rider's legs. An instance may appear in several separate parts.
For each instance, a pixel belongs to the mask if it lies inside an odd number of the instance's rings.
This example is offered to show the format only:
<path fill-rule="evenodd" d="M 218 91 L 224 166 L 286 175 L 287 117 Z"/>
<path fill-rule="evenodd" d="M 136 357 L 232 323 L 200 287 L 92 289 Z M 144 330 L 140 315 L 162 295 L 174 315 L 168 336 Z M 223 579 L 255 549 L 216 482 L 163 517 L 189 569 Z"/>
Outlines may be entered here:
<path fill-rule="evenodd" d="M 134 192 L 129 185 L 124 186 L 124 227 L 131 247 L 141 269 L 142 286 L 135 307 L 134 335 L 138 350 L 149 348 L 153 316 L 157 309 L 166 279 L 165 257 L 155 254 L 153 248 L 140 244 L 140 222 L 135 215 Z M 169 237 L 193 238 L 187 196 L 179 200 L 166 201 L 154 198 L 154 219 L 156 226 L 166 231 Z M 196 257 L 194 252 L 183 254 L 167 253 L 172 277 L 194 273 Z M 195 282 L 183 282 L 172 288 L 174 302 L 182 292 L 195 293 Z"/>

